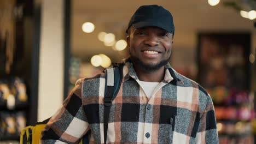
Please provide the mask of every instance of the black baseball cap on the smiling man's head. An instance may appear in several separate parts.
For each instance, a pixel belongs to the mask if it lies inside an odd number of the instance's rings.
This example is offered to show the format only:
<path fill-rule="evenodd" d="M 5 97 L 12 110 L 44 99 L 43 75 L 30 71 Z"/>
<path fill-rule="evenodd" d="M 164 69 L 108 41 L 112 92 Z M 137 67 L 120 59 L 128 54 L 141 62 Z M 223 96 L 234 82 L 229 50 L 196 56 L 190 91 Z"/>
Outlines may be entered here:
<path fill-rule="evenodd" d="M 172 14 L 159 5 L 142 5 L 139 7 L 132 15 L 126 33 L 131 26 L 135 28 L 155 26 L 174 34 Z"/>

